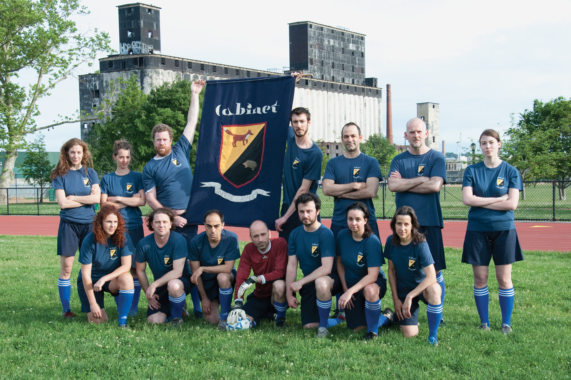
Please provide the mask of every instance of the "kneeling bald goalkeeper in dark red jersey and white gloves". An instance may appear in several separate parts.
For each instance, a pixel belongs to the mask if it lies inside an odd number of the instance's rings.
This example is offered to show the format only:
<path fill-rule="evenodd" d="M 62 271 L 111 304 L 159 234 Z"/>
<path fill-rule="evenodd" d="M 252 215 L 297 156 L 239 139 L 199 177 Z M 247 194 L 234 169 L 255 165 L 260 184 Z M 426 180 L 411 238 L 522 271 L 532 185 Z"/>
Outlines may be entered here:
<path fill-rule="evenodd" d="M 250 225 L 250 240 L 238 264 L 234 310 L 228 315 L 228 324 L 242 316 L 254 327 L 262 318 L 273 318 L 277 314 L 276 326 L 285 327 L 287 242 L 283 237 L 272 239 L 267 224 L 261 220 Z M 254 276 L 250 276 L 251 271 Z M 256 289 L 244 304 L 244 292 L 253 284 Z"/>

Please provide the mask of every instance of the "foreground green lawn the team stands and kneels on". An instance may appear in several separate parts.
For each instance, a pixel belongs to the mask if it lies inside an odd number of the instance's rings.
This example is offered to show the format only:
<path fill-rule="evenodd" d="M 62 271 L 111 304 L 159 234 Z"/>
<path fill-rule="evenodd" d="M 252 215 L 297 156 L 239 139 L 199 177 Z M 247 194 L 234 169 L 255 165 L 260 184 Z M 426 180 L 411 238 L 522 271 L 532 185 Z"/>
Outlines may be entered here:
<path fill-rule="evenodd" d="M 242 243 L 243 247 L 244 243 Z M 447 299 L 438 347 L 427 344 L 425 307 L 420 334 L 403 338 L 395 327 L 365 343 L 344 325 L 318 340 L 301 329 L 299 311 L 288 328 L 263 321 L 243 333 L 218 332 L 193 317 L 181 331 L 149 326 L 146 301 L 116 326 L 111 296 L 106 325 L 88 325 L 85 314 L 62 320 L 57 290 L 56 238 L 0 235 L 0 379 L 565 379 L 571 375 L 571 258 L 569 253 L 525 252 L 514 265 L 514 332 L 502 335 L 497 284 L 490 281 L 492 332 L 479 325 L 469 265 L 446 249 Z M 77 271 L 71 305 L 79 310 Z M 151 277 L 151 275 L 150 275 Z M 490 276 L 490 280 L 493 278 Z M 392 307 L 390 290 L 383 308 Z"/>

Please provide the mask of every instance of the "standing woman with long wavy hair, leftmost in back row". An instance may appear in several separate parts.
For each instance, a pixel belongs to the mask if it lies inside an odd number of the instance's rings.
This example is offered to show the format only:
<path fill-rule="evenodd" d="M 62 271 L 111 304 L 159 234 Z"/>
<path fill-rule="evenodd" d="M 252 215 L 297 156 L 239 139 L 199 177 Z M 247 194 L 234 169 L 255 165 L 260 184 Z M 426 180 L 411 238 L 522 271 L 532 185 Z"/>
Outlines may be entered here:
<path fill-rule="evenodd" d="M 71 269 L 75 252 L 92 230 L 95 216 L 93 205 L 99 203 L 99 179 L 87 144 L 79 139 L 68 140 L 59 152 L 59 162 L 51 172 L 51 187 L 59 208 L 58 256 L 60 261 L 58 291 L 65 318 L 71 312 Z"/>

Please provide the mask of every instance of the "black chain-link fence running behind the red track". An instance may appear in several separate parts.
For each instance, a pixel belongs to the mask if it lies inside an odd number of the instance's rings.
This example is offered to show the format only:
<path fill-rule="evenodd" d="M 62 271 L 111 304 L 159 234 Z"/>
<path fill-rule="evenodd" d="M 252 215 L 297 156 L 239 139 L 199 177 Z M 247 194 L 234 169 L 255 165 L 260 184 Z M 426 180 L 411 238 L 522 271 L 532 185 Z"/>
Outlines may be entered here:
<path fill-rule="evenodd" d="M 571 221 L 571 199 L 565 189 L 571 181 L 525 181 L 524 191 L 515 211 L 516 220 Z M 50 197 L 51 192 L 51 197 Z M 34 187 L 0 188 L 0 215 L 58 215 L 59 207 L 53 189 Z M 321 217 L 333 215 L 333 197 L 324 196 L 321 189 Z M 7 203 L 6 203 L 7 199 Z M 53 200 L 52 200 L 53 199 Z M 395 193 L 381 183 L 377 197 L 373 199 L 377 219 L 391 219 L 395 213 Z M 462 203 L 462 184 L 448 183 L 440 190 L 442 215 L 447 220 L 467 220 L 469 207 Z M 150 211 L 141 208 L 143 215 Z"/>

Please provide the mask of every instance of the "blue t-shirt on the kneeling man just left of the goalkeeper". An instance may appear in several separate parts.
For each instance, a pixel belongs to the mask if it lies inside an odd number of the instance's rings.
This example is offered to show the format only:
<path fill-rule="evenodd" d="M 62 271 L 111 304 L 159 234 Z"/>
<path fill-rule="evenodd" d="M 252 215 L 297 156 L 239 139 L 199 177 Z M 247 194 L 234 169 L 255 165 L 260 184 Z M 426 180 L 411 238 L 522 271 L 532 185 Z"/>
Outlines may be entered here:
<path fill-rule="evenodd" d="M 200 266 L 224 265 L 226 260 L 232 261 L 237 258 L 240 258 L 238 235 L 226 229 L 222 230 L 220 241 L 214 248 L 208 242 L 206 231 L 193 237 L 188 244 L 188 259 L 200 261 Z M 202 272 L 202 281 L 215 280 L 216 276 L 214 273 Z"/>

